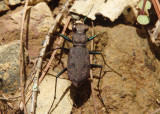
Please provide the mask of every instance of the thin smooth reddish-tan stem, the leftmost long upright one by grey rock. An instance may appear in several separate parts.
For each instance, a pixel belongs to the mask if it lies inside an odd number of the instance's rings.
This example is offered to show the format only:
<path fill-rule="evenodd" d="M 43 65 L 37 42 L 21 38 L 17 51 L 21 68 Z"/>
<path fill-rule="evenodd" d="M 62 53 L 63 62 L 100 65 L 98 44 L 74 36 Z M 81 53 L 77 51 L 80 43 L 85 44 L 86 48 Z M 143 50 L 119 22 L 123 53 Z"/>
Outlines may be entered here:
<path fill-rule="evenodd" d="M 24 51 L 23 51 L 23 28 L 24 28 L 24 21 L 26 16 L 28 6 L 28 0 L 26 0 L 24 9 L 23 9 L 23 15 L 21 20 L 21 33 L 20 33 L 20 84 L 21 84 L 21 97 L 22 97 L 22 103 L 24 107 L 24 113 L 27 114 L 27 109 L 25 105 L 25 96 L 24 96 L 24 83 L 23 83 L 23 68 L 24 68 Z"/>

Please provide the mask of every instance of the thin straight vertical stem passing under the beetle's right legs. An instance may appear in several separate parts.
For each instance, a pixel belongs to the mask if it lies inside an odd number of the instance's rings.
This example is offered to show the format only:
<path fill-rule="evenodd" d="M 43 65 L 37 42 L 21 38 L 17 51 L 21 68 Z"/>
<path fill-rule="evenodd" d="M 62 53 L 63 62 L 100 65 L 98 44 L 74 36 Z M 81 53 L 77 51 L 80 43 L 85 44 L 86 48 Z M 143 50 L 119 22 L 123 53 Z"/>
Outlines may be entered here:
<path fill-rule="evenodd" d="M 93 24 L 93 22 L 92 22 L 92 26 L 93 26 L 92 36 L 94 36 L 94 24 Z M 93 42 L 94 41 L 92 40 L 91 41 L 91 51 L 93 50 Z M 93 55 L 91 54 L 90 55 L 90 64 L 92 64 L 92 61 L 93 61 Z M 94 104 L 94 112 L 95 112 L 95 114 L 97 114 L 95 92 L 94 92 L 94 88 L 93 88 L 93 71 L 92 71 L 92 69 L 90 69 L 90 77 L 91 77 L 91 80 L 92 80 L 91 90 L 92 90 L 92 99 L 93 99 L 93 104 Z"/>

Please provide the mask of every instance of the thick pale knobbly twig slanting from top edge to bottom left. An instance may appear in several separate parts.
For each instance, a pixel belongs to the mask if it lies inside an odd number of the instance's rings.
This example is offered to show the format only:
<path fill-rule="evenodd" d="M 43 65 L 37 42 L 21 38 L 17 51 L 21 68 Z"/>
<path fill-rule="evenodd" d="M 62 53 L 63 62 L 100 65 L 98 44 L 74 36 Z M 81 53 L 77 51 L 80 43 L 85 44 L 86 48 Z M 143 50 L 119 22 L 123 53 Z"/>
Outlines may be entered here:
<path fill-rule="evenodd" d="M 57 15 L 56 20 L 54 22 L 54 25 L 50 28 L 47 36 L 45 37 L 44 45 L 43 45 L 43 47 L 40 51 L 40 54 L 39 54 L 40 56 L 38 58 L 38 62 L 37 62 L 37 65 L 36 65 L 36 74 L 35 74 L 34 80 L 33 80 L 33 89 L 32 89 L 33 94 L 32 94 L 31 114 L 35 114 L 35 110 L 36 110 L 37 92 L 38 92 L 38 84 L 39 84 L 38 80 L 39 80 L 39 76 L 40 76 L 40 73 L 41 73 L 42 61 L 43 61 L 43 57 L 45 55 L 46 48 L 49 45 L 51 35 L 56 31 L 57 24 L 60 22 L 60 19 L 62 18 L 63 13 L 68 6 L 69 6 L 69 1 L 67 1 L 65 3 L 61 12 Z M 45 71 L 45 73 L 43 73 L 43 75 L 45 75 L 46 72 L 47 71 Z"/>

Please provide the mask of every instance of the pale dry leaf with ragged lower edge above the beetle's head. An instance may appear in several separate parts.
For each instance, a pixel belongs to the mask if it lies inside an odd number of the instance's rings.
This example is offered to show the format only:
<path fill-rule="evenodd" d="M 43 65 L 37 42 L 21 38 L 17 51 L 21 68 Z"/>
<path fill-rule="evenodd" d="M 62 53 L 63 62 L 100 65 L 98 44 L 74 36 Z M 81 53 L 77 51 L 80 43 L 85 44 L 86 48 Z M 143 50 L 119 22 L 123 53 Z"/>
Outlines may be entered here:
<path fill-rule="evenodd" d="M 114 21 L 122 14 L 125 7 L 132 7 L 137 1 L 138 0 L 78 0 L 75 1 L 70 11 L 87 16 L 92 20 L 96 19 L 96 15 L 101 14 L 111 21 Z"/>

